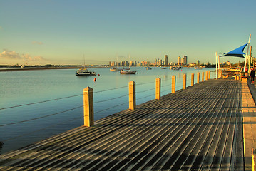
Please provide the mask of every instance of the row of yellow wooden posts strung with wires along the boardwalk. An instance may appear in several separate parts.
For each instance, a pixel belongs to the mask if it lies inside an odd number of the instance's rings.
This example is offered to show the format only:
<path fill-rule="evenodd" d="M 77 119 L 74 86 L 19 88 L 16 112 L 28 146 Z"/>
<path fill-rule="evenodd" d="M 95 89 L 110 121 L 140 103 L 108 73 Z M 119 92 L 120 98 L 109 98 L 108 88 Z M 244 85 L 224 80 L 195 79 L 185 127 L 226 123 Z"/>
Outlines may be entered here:
<path fill-rule="evenodd" d="M 63 131 L 71 129 L 71 127 L 62 127 L 60 129 L 61 125 L 71 125 L 71 123 L 76 124 L 72 128 L 76 128 L 79 125 L 86 125 L 86 126 L 93 126 L 94 125 L 94 116 L 100 115 L 103 113 L 103 117 L 106 117 L 107 115 L 110 115 L 111 113 L 117 113 L 118 110 L 125 110 L 128 108 L 130 110 L 135 110 L 137 104 L 145 103 L 148 100 L 153 100 L 153 99 L 158 99 L 160 100 L 162 95 L 168 94 L 168 93 L 175 93 L 177 90 L 185 89 L 189 86 L 189 80 L 191 80 L 191 86 L 195 85 L 195 81 L 197 83 L 200 83 L 200 81 L 205 80 L 207 78 L 201 78 L 200 75 L 202 76 L 203 74 L 200 74 L 198 72 L 197 74 L 192 73 L 191 75 L 183 75 L 183 76 L 172 76 L 171 78 L 156 78 L 155 81 L 148 82 L 148 83 L 139 83 L 136 84 L 134 81 L 132 83 L 129 83 L 132 88 L 130 89 L 129 86 L 123 86 L 119 88 L 110 88 L 107 90 L 99 90 L 99 91 L 93 91 L 93 88 L 88 88 L 88 89 L 83 89 L 83 93 L 78 94 L 78 95 L 70 95 L 67 97 L 63 98 L 55 98 L 51 100 L 43 100 L 40 102 L 35 102 L 35 103 L 27 103 L 27 104 L 22 104 L 22 105 L 14 105 L 10 107 L 5 107 L 5 108 L 0 108 L 0 110 L 11 110 L 14 108 L 20 108 L 24 107 L 25 110 L 28 110 L 29 105 L 40 105 L 40 103 L 53 103 L 55 101 L 61 101 L 61 100 L 68 100 L 69 98 L 83 98 L 83 104 L 78 104 L 77 106 L 72 106 L 71 108 L 68 108 L 68 105 L 61 105 L 63 106 L 63 110 L 61 111 L 55 111 L 55 112 L 49 112 L 49 110 L 45 111 L 46 115 L 37 115 L 36 117 L 33 118 L 33 115 L 31 117 L 23 118 L 23 120 L 15 120 L 11 119 L 12 122 L 1 122 L 0 123 L 0 128 L 4 128 L 5 130 L 8 130 L 10 133 L 9 136 L 2 136 L 0 137 L 0 142 L 11 142 L 14 143 L 16 140 L 19 138 L 24 138 L 24 137 L 30 137 L 30 136 L 39 136 L 39 132 L 44 134 L 43 138 L 47 138 L 48 136 L 45 136 L 46 130 L 56 130 L 56 127 L 58 126 L 59 132 L 54 132 L 53 135 L 56 135 L 56 133 L 61 133 Z M 197 76 L 197 78 L 195 78 Z M 210 79 L 210 72 L 207 74 L 205 73 L 205 76 L 208 76 L 208 79 Z M 178 78 L 178 79 L 177 79 Z M 181 79 L 180 79 L 181 78 Z M 214 78 L 214 77 L 213 77 Z M 170 83 L 171 82 L 171 83 Z M 148 84 L 148 85 L 147 85 Z M 151 85 L 152 84 L 152 85 Z M 153 86 L 155 84 L 155 86 Z M 145 86 L 147 85 L 147 86 Z M 137 88 L 138 87 L 138 88 Z M 147 87 L 148 89 L 145 89 Z M 130 89 L 130 92 L 124 93 L 125 91 L 123 90 L 124 88 Z M 136 88 L 138 91 L 136 91 Z M 127 89 L 127 90 L 128 90 Z M 111 92 L 111 93 L 110 93 Z M 112 93 L 114 92 L 114 93 Z M 118 93 L 117 93 L 118 92 Z M 121 93 L 119 93 L 121 92 Z M 112 94 L 111 98 L 109 98 L 108 95 L 106 95 L 104 98 L 99 99 L 101 97 L 101 94 L 103 93 L 110 93 Z M 113 95 L 115 94 L 115 95 Z M 85 95 L 88 95 L 88 98 L 84 98 Z M 95 96 L 95 97 L 93 97 Z M 155 96 L 155 97 L 154 97 Z M 129 103 L 127 102 L 126 98 L 129 98 Z M 94 101 L 96 99 L 96 101 Z M 97 100 L 98 99 L 98 100 Z M 79 100 L 80 101 L 80 100 Z M 109 101 L 113 101 L 113 105 L 109 105 Z M 82 102 L 82 100 L 81 100 Z M 118 102 L 118 103 L 116 103 Z M 106 103 L 106 104 L 105 104 Z M 51 108 L 54 109 L 54 105 L 51 105 Z M 22 110 L 19 110 L 22 111 Z M 53 110 L 54 111 L 54 110 Z M 81 115 L 83 113 L 83 115 Z M 86 114 L 85 114 L 86 113 Z M 109 113 L 109 114 L 108 114 Z M 1 115 L 2 113 L 0 113 Z M 61 115 L 61 117 L 57 116 Z M 71 115 L 70 117 L 66 117 L 64 119 L 62 116 L 63 115 Z M 48 118 L 57 118 L 58 120 L 48 120 Z M 83 118 L 83 123 L 81 122 Z M 44 120 L 43 120 L 44 119 Z M 40 122 L 41 127 L 36 127 L 34 130 L 29 128 L 29 125 L 37 125 L 38 121 L 37 120 L 43 120 L 47 124 L 43 124 Z M 34 124 L 31 124 L 32 121 Z M 51 122 L 49 122 L 51 121 Z M 17 125 L 17 128 L 22 128 L 23 126 L 19 124 L 24 124 L 25 127 L 28 127 L 29 129 L 26 129 L 27 132 L 21 132 L 21 133 L 14 133 L 12 135 L 11 131 L 16 131 L 13 127 L 13 125 Z M 77 125 L 78 124 L 78 125 Z M 8 127 L 9 126 L 9 127 Z M 33 127 L 32 127 L 33 128 Z M 51 132 L 51 131 L 48 131 Z M 39 140 L 39 139 L 37 139 Z M 37 141 L 36 140 L 36 141 Z M 32 143 L 32 142 L 29 142 Z M 24 146 L 24 145 L 22 145 Z M 1 147 L 0 147 L 0 152 L 1 152 Z"/>

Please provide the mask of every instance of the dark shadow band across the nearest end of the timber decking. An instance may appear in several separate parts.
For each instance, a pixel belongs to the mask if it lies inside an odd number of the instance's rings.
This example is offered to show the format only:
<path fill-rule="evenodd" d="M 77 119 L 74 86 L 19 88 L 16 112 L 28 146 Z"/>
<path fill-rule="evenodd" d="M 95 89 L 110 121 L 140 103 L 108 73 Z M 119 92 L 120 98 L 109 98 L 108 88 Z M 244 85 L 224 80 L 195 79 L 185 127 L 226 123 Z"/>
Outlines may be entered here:
<path fill-rule="evenodd" d="M 55 145 L 56 148 L 58 145 Z M 172 155 L 168 155 L 164 152 L 152 152 L 148 148 L 144 151 L 129 151 L 129 150 L 101 150 L 96 147 L 86 149 L 84 145 L 79 147 L 66 147 L 69 148 L 67 152 L 62 150 L 48 151 L 48 153 L 60 153 L 56 157 L 46 157 L 44 159 L 20 159 L 21 161 L 15 165 L 10 165 L 14 168 L 29 168 L 32 167 L 36 169 L 70 169 L 78 168 L 82 170 L 118 170 L 123 167 L 123 170 L 128 170 L 128 167 L 132 167 L 133 170 L 141 169 L 140 167 L 146 163 L 144 167 L 154 167 L 155 170 L 158 169 L 170 169 L 179 170 L 181 166 L 184 169 L 199 169 L 203 168 L 220 168 L 222 169 L 230 168 L 230 157 L 214 157 L 214 156 L 203 156 L 203 155 L 189 155 L 189 154 L 180 154 L 179 151 L 174 152 Z M 77 151 L 80 150 L 80 151 Z M 71 152 L 74 152 L 72 158 L 65 158 Z M 61 153 L 63 153 L 61 155 Z M 150 159 L 150 160 L 148 160 Z M 243 157 L 236 157 L 237 168 L 242 169 L 243 166 Z M 33 163 L 29 165 L 29 163 Z M 48 163 L 51 163 L 47 165 Z M 202 163 L 204 165 L 202 165 Z M 221 163 L 221 165 L 220 165 Z M 111 168 L 112 167 L 112 168 Z M 192 167 L 192 168 L 191 168 Z M 154 169 L 153 169 L 154 170 Z"/>

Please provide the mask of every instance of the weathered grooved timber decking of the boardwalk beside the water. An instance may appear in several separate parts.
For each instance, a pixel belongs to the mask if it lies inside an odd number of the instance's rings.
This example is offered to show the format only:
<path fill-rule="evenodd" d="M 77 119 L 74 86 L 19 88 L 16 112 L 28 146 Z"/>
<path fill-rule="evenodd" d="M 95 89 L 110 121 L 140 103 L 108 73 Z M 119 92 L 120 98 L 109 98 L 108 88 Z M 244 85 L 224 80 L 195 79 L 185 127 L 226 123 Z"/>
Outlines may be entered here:
<path fill-rule="evenodd" d="M 244 170 L 241 108 L 239 81 L 208 80 L 0 155 L 0 170 Z"/>

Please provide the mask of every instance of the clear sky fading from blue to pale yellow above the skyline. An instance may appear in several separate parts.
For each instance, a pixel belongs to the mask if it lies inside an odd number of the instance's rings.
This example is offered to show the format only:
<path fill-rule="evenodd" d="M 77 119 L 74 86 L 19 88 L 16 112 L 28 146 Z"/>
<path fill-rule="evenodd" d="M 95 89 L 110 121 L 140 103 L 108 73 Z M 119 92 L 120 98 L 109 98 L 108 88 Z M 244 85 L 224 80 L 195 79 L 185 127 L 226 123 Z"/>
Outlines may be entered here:
<path fill-rule="evenodd" d="M 253 56 L 255 18 L 255 0 L 0 0 L 0 65 L 215 63 L 250 34 Z"/>

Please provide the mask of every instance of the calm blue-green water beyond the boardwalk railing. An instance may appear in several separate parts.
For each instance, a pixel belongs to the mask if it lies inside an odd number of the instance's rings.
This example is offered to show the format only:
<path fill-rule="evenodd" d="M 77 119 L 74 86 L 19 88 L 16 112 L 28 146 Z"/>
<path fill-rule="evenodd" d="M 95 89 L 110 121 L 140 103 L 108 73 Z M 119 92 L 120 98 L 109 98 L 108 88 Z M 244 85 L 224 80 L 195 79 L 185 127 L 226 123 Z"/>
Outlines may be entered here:
<path fill-rule="evenodd" d="M 98 120 L 128 108 L 129 81 L 136 83 L 138 105 L 155 98 L 155 78 L 161 78 L 161 95 L 165 95 L 171 92 L 172 76 L 176 76 L 179 90 L 184 73 L 190 86 L 191 73 L 195 73 L 196 83 L 196 73 L 201 76 L 215 68 L 131 70 L 138 74 L 120 75 L 109 68 L 92 68 L 100 74 L 92 77 L 75 76 L 76 69 L 0 72 L 0 141 L 4 142 L 0 154 L 83 125 L 83 88 L 87 86 L 94 91 L 94 118 Z M 29 103 L 34 104 L 26 105 Z M 18 107 L 9 108 L 12 106 Z"/>

